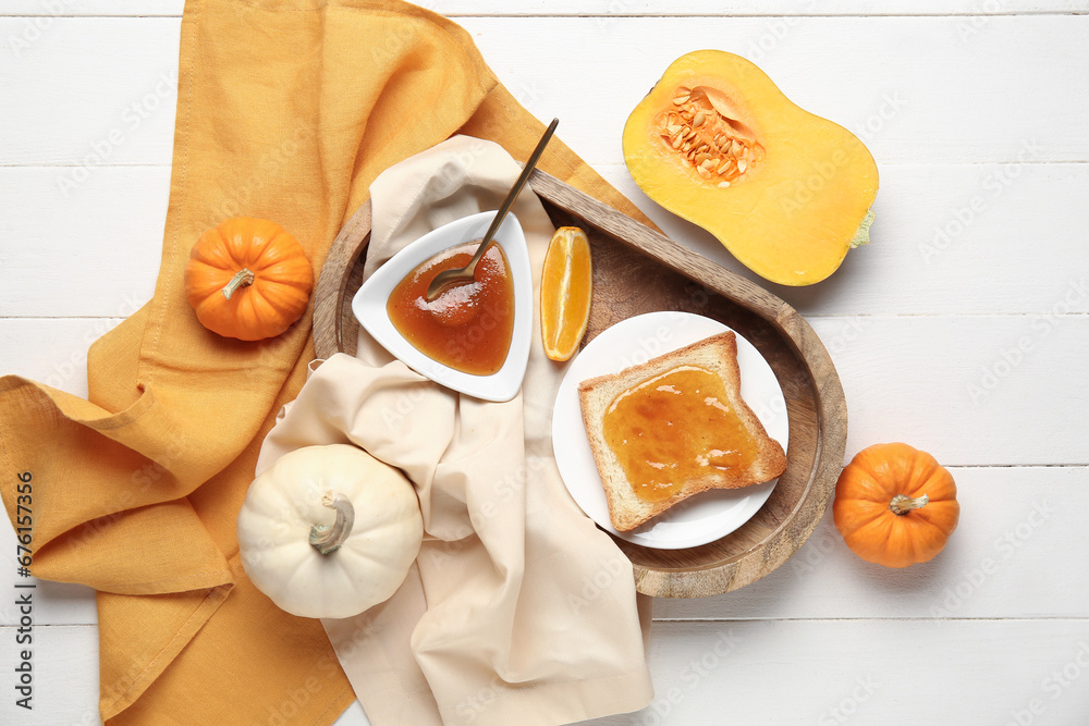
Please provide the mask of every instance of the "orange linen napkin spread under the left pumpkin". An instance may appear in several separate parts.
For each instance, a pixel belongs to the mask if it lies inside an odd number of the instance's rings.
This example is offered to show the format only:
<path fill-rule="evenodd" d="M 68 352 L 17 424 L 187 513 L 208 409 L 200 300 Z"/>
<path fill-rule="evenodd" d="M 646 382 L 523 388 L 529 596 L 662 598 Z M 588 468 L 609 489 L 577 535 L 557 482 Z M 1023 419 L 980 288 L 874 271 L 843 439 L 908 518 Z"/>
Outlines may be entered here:
<path fill-rule="evenodd" d="M 111 724 L 322 724 L 352 701 L 315 620 L 246 580 L 235 519 L 276 414 L 306 378 L 309 315 L 221 339 L 182 295 L 188 249 L 273 219 L 320 269 L 379 172 L 458 128 L 525 159 L 542 131 L 462 28 L 365 0 L 189 0 L 154 298 L 88 353 L 87 401 L 0 379 L 0 495 L 33 477 L 33 571 L 96 588 Z M 541 167 L 635 212 L 562 144 Z"/>

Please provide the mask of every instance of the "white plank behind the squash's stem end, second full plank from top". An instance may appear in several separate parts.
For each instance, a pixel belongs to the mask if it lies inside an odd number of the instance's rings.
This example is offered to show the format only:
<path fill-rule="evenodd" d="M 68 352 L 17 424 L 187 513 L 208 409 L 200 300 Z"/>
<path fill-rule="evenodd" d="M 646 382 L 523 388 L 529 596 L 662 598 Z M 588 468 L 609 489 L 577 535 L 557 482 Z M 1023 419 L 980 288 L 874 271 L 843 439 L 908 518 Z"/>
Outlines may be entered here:
<path fill-rule="evenodd" d="M 599 170 L 674 239 L 803 315 L 1044 312 L 1064 279 L 1089 278 L 1086 164 L 886 165 L 873 242 L 829 280 L 802 288 L 749 272 L 709 233 L 648 199 L 625 167 Z M 154 291 L 170 169 L 98 168 L 68 195 L 63 173 L 0 168 L 0 209 L 8 210 L 0 316 L 123 317 Z M 1069 310 L 1089 312 L 1089 296 L 1076 296 Z"/>

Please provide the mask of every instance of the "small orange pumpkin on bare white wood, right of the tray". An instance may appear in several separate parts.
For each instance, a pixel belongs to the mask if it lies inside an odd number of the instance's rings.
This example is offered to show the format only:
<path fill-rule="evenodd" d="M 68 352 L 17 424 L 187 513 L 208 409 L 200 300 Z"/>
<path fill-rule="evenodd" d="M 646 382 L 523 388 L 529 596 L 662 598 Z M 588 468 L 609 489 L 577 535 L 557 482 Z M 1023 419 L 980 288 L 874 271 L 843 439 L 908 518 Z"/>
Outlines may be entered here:
<path fill-rule="evenodd" d="M 907 444 L 876 444 L 844 467 L 832 517 L 867 562 L 907 567 L 942 551 L 956 529 L 956 484 L 933 456 Z"/>

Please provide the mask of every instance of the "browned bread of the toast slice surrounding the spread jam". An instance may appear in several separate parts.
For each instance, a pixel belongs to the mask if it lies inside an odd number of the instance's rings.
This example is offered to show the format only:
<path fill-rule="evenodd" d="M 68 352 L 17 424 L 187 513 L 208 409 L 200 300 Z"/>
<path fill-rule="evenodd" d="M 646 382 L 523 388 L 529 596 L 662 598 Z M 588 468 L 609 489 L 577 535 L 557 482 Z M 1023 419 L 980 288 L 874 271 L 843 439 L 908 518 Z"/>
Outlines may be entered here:
<path fill-rule="evenodd" d="M 722 465 L 710 467 L 710 470 L 702 467 L 699 476 L 685 481 L 671 481 L 665 499 L 650 502 L 639 496 L 628 480 L 624 465 L 608 443 L 603 421 L 613 402 L 622 393 L 684 366 L 694 366 L 721 378 L 726 394 L 723 403 L 737 416 L 743 435 L 751 438 L 751 451 L 755 453 L 751 462 L 745 465 Z M 609 518 L 619 531 L 633 530 L 694 494 L 709 489 L 741 489 L 761 483 L 774 479 L 786 469 L 783 447 L 768 435 L 763 424 L 742 399 L 737 341 L 731 331 L 706 337 L 619 373 L 583 381 L 578 385 L 578 398 L 594 460 L 609 502 Z M 669 423 L 665 421 L 652 423 L 645 435 L 653 436 L 656 432 L 675 435 L 675 429 L 662 428 L 666 426 Z M 715 435 L 735 438 L 737 434 L 717 429 Z M 744 445 L 744 442 L 739 443 Z"/>

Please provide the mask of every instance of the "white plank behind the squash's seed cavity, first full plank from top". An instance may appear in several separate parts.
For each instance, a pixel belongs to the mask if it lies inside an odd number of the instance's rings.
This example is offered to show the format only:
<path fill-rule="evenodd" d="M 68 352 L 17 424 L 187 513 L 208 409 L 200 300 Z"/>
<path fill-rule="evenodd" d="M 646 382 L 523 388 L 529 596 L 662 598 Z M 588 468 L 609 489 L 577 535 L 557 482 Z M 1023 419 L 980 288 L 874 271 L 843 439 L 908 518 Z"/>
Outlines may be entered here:
<path fill-rule="evenodd" d="M 1089 66 L 1086 16 L 987 19 L 969 36 L 956 17 L 810 17 L 779 35 L 760 17 L 613 20 L 463 24 L 512 93 L 539 118 L 563 119 L 563 138 L 595 164 L 621 161 L 632 108 L 673 59 L 701 47 L 757 60 L 792 100 L 856 131 L 882 163 L 1089 159 L 1089 76 L 1056 72 Z M 0 38 L 24 22 L 0 19 Z M 75 174 L 107 151 L 110 163 L 169 163 L 174 91 L 163 79 L 176 73 L 178 34 L 175 17 L 56 19 L 0 66 L 5 102 L 20 109 L 0 118 L 12 139 L 0 165 L 69 164 Z M 51 111 L 58 96 L 66 113 Z"/>

